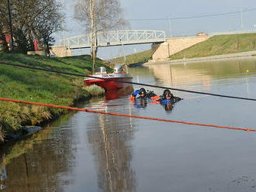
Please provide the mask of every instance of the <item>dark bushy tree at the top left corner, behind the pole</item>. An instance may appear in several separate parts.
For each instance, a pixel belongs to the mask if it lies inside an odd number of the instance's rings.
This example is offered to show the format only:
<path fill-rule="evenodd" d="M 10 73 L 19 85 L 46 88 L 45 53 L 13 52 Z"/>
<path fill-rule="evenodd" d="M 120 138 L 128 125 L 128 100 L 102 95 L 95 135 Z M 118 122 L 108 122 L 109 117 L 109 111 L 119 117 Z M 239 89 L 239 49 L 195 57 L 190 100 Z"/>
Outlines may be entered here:
<path fill-rule="evenodd" d="M 33 40 L 37 39 L 41 47 L 49 52 L 50 43 L 54 42 L 52 34 L 61 29 L 61 2 L 60 0 L 10 0 L 12 8 L 12 28 L 14 40 L 18 50 L 24 51 L 33 48 Z M 0 23 L 5 27 L 1 33 L 9 33 L 9 18 L 7 0 L 0 1 Z M 22 35 L 24 35 L 22 37 Z M 26 39 L 27 42 L 21 40 Z M 25 43 L 21 45 L 20 43 Z"/>

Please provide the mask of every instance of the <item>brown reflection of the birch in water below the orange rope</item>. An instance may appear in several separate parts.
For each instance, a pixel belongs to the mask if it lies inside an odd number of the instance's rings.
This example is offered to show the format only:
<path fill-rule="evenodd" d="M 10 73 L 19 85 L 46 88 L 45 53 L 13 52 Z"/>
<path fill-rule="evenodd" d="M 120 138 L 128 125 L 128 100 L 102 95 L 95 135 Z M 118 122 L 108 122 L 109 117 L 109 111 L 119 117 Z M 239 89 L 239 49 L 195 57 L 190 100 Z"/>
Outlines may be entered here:
<path fill-rule="evenodd" d="M 132 153 L 127 144 L 132 136 L 129 118 L 110 115 L 99 115 L 99 129 L 88 131 L 103 191 L 136 190 L 135 172 L 130 167 Z"/>

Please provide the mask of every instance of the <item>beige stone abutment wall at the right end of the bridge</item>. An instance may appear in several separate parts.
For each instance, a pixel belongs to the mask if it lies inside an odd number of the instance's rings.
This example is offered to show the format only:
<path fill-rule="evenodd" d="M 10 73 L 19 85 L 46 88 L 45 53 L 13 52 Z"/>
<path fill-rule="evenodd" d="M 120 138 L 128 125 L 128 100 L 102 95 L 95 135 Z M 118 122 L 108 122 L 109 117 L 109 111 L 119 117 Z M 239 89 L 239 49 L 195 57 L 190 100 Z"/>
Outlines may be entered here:
<path fill-rule="evenodd" d="M 153 52 L 152 60 L 150 61 L 156 62 L 168 60 L 168 57 L 171 55 L 207 39 L 209 39 L 209 36 L 179 37 L 166 39 L 166 42 L 164 43 L 153 44 L 151 46 Z"/>

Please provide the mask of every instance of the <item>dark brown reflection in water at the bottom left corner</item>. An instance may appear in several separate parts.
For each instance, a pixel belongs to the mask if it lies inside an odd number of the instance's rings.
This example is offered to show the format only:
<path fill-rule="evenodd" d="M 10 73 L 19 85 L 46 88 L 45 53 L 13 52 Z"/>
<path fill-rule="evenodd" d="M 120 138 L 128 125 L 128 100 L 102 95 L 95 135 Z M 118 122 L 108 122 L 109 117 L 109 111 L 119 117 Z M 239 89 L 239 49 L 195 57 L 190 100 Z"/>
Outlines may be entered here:
<path fill-rule="evenodd" d="M 49 139 L 49 133 L 51 133 Z M 52 132 L 43 129 L 33 135 L 33 139 L 17 142 L 5 147 L 2 161 L 6 164 L 8 191 L 61 191 L 63 184 L 57 175 L 70 170 L 73 159 L 71 153 L 71 132 Z M 36 137 L 35 137 L 36 136 Z M 6 154 L 6 156 L 4 156 Z M 0 183 L 1 184 L 1 183 Z"/>

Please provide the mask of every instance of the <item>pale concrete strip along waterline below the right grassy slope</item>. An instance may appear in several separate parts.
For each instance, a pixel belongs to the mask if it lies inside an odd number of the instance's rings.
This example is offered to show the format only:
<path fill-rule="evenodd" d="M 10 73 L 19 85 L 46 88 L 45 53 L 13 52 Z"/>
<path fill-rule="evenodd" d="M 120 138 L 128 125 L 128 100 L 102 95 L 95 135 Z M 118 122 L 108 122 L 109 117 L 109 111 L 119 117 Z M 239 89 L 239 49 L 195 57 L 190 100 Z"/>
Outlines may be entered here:
<path fill-rule="evenodd" d="M 242 53 L 231 53 L 225 55 L 216 55 L 209 57 L 196 57 L 196 58 L 183 58 L 180 60 L 166 60 L 161 62 L 147 62 L 144 65 L 156 64 L 156 63 L 192 63 L 192 62 L 201 62 L 209 60 L 230 60 L 233 58 L 244 58 L 244 57 L 256 57 L 256 51 L 242 52 Z"/>

